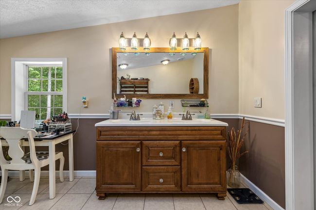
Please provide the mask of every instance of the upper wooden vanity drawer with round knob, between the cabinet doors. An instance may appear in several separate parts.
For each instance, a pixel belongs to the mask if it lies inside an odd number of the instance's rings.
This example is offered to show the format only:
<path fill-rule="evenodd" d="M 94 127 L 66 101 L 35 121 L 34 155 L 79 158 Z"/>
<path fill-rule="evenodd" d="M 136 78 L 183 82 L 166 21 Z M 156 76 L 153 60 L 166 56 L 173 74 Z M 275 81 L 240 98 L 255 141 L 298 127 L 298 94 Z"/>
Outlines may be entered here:
<path fill-rule="evenodd" d="M 143 141 L 142 165 L 180 165 L 179 141 Z"/>

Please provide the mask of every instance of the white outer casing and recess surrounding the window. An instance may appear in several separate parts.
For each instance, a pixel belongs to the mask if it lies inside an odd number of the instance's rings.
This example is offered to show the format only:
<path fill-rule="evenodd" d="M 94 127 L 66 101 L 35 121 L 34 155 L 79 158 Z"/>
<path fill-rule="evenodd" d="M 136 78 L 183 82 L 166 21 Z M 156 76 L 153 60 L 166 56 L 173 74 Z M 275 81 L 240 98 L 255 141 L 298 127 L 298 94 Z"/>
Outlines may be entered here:
<path fill-rule="evenodd" d="M 16 69 L 16 64 L 22 65 L 54 65 L 56 62 L 61 62 L 63 67 L 63 91 L 62 92 L 49 92 L 49 94 L 63 95 L 63 111 L 67 112 L 67 58 L 11 58 L 11 118 L 14 121 L 20 119 L 19 113 L 22 110 L 26 110 L 27 99 L 25 99 L 25 93 L 27 92 L 27 74 L 25 73 L 25 67 L 21 69 Z M 17 79 L 17 75 L 21 74 L 23 76 L 23 81 Z M 25 79 L 26 78 L 26 79 Z M 19 82 L 22 82 L 23 88 L 17 88 Z M 24 97 L 18 97 L 21 95 L 23 89 Z M 29 92 L 30 94 L 32 92 Z M 47 92 L 35 92 L 36 95 L 42 93 L 42 95 L 48 94 Z M 17 96 L 17 97 L 16 97 Z M 19 106 L 23 103 L 23 107 Z"/>

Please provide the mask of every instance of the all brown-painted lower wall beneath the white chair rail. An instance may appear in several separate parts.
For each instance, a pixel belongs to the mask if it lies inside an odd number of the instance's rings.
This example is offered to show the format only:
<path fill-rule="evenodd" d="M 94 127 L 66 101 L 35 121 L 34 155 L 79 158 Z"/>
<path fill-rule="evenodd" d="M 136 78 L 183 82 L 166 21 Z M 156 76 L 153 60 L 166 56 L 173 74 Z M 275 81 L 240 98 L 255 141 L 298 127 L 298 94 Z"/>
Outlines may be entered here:
<path fill-rule="evenodd" d="M 74 170 L 95 170 L 96 129 L 94 124 L 105 119 L 80 119 L 79 129 L 73 137 Z M 240 127 L 240 119 L 217 119 L 228 123 L 226 131 Z M 71 119 L 77 127 L 77 119 Z M 285 209 L 285 153 L 284 128 L 258 122 L 249 122 L 245 148 L 249 153 L 240 159 L 241 173 Z M 36 148 L 48 151 L 48 148 Z M 68 145 L 56 145 L 56 151 L 65 156 L 64 170 L 69 169 Z M 229 160 L 227 163 L 229 166 Z M 59 163 L 56 164 L 58 170 Z M 48 167 L 42 168 L 48 170 Z"/>

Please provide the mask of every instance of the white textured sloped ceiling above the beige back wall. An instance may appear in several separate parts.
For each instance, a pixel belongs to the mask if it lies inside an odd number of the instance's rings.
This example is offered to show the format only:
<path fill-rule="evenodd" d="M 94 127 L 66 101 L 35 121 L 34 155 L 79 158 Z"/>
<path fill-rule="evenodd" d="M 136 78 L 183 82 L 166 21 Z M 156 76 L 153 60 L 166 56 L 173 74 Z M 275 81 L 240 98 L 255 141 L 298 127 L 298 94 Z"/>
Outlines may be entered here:
<path fill-rule="evenodd" d="M 0 0 L 0 38 L 228 6 L 239 0 Z"/>

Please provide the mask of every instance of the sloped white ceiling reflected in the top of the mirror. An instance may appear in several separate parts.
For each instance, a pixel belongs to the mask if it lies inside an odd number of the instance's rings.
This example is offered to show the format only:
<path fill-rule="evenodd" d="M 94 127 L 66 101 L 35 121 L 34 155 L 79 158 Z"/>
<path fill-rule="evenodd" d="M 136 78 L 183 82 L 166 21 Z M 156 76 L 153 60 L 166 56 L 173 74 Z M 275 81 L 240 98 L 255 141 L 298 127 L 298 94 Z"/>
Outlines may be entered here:
<path fill-rule="evenodd" d="M 199 52 L 200 53 L 200 52 Z M 155 52 L 151 53 L 149 56 L 145 55 L 145 53 L 141 52 L 139 55 L 134 55 L 134 53 L 130 52 L 128 54 L 118 52 L 117 53 L 117 66 L 120 64 L 127 64 L 127 68 L 125 69 L 134 69 L 134 68 L 141 68 L 151 65 L 162 65 L 161 61 L 169 60 L 169 63 L 177 62 L 177 61 L 184 61 L 188 59 L 194 58 L 194 55 L 191 53 L 187 53 L 185 56 L 180 55 L 180 53 L 175 53 L 174 56 L 170 56 L 168 52 Z M 119 67 L 117 67 L 120 70 Z"/>

